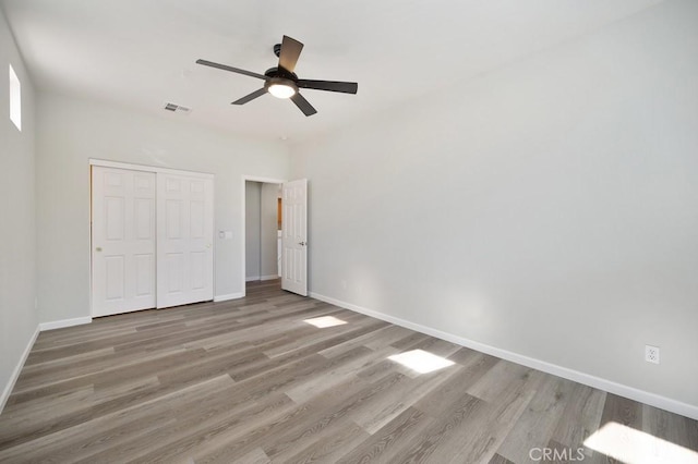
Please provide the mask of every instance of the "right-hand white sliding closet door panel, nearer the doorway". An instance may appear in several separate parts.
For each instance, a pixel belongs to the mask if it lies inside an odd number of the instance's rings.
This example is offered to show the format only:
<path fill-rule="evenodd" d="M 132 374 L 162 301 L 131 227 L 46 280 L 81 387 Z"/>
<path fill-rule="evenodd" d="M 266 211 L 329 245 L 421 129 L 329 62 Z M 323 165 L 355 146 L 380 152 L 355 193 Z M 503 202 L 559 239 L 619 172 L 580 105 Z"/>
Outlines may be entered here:
<path fill-rule="evenodd" d="M 214 180 L 157 173 L 157 307 L 214 298 Z"/>

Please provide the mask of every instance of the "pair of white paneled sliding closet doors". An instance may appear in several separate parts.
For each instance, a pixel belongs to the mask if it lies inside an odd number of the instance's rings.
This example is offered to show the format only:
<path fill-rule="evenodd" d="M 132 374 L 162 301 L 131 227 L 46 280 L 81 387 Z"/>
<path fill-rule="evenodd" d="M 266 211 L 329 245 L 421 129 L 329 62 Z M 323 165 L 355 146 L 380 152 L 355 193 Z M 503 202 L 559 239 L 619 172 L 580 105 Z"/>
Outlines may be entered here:
<path fill-rule="evenodd" d="M 213 176 L 92 169 L 93 317 L 213 300 Z"/>

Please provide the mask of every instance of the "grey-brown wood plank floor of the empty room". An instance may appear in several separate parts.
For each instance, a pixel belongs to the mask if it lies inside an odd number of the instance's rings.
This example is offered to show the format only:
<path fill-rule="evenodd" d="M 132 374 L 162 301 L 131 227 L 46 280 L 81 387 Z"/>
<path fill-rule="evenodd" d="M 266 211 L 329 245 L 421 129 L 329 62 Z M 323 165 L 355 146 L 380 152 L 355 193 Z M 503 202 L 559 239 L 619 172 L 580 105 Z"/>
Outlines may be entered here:
<path fill-rule="evenodd" d="M 321 316 L 346 323 L 303 321 Z M 455 364 L 419 374 L 387 358 L 412 350 Z M 665 440 L 655 462 L 672 447 L 698 457 L 696 420 L 273 281 L 243 300 L 41 332 L 0 415 L 0 462 L 565 461 L 531 460 L 549 449 L 598 463 L 610 461 L 582 442 L 607 423 Z"/>

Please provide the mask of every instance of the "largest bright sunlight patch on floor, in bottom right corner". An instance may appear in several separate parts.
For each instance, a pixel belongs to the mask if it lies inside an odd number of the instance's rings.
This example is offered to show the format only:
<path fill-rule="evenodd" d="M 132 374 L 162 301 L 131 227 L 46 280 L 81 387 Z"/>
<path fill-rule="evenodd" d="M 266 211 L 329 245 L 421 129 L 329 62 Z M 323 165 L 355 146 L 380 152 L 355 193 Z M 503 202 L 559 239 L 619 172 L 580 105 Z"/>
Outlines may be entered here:
<path fill-rule="evenodd" d="M 698 464 L 698 453 L 618 423 L 607 423 L 585 440 L 585 445 L 633 464 Z"/>

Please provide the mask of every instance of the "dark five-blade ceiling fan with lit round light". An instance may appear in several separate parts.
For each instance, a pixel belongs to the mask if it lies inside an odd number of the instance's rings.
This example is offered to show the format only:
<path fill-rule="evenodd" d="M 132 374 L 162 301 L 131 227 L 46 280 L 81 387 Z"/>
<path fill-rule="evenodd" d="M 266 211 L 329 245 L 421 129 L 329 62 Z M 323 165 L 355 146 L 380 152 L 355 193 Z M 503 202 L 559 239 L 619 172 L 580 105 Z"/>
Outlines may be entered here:
<path fill-rule="evenodd" d="M 274 54 L 279 58 L 278 66 L 267 70 L 264 74 L 257 74 L 251 71 L 240 70 L 238 68 L 228 66 L 227 64 L 214 63 L 206 60 L 196 60 L 196 63 L 238 74 L 244 74 L 246 76 L 264 81 L 264 87 L 233 101 L 231 105 L 244 105 L 268 91 L 277 98 L 290 98 L 303 114 L 309 117 L 315 114 L 317 110 L 315 110 L 315 108 L 313 108 L 313 106 L 308 102 L 301 94 L 299 94 L 299 88 L 340 91 L 342 94 L 357 93 L 359 84 L 356 82 L 311 81 L 298 78 L 293 70 L 296 69 L 296 62 L 298 61 L 298 57 L 300 57 L 302 49 L 303 44 L 292 39 L 291 37 L 284 36 L 281 44 L 276 44 L 274 46 Z"/>

